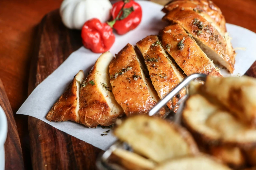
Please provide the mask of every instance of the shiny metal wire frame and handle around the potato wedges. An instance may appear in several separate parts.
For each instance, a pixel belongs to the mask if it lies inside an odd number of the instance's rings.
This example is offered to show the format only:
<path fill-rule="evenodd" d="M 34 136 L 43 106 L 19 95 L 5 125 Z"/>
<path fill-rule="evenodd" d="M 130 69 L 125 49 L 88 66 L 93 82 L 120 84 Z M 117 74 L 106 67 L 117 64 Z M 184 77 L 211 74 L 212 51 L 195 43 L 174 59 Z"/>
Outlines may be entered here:
<path fill-rule="evenodd" d="M 179 93 L 179 91 L 181 91 L 184 87 L 186 87 L 191 81 L 193 81 L 195 79 L 205 81 L 206 77 L 207 77 L 207 75 L 205 75 L 205 74 L 192 74 L 192 75 L 188 76 L 175 89 L 173 89 L 173 91 L 168 93 L 161 101 L 159 101 L 157 103 L 157 105 L 154 106 L 149 111 L 148 115 L 153 116 L 154 114 L 156 114 L 163 106 L 166 105 L 167 102 L 169 102 L 177 93 Z M 177 103 L 177 105 L 179 105 L 179 109 L 174 117 L 173 117 L 173 114 L 167 113 L 165 119 L 173 120 L 173 118 L 174 118 L 174 122 L 179 124 L 181 113 L 182 113 L 182 110 L 184 107 L 184 101 L 187 98 L 188 98 L 188 94 L 186 94 L 184 97 L 182 97 L 179 100 L 179 102 Z M 172 112 L 172 111 L 170 111 L 170 112 Z M 117 148 L 122 148 L 125 150 L 132 151 L 132 148 L 129 147 L 126 143 L 117 140 L 114 144 L 111 145 L 111 147 L 108 150 L 106 150 L 102 155 L 100 155 L 98 157 L 98 159 L 96 161 L 96 166 L 99 170 L 124 170 L 122 167 L 120 167 L 118 165 L 108 163 L 110 155 Z"/>

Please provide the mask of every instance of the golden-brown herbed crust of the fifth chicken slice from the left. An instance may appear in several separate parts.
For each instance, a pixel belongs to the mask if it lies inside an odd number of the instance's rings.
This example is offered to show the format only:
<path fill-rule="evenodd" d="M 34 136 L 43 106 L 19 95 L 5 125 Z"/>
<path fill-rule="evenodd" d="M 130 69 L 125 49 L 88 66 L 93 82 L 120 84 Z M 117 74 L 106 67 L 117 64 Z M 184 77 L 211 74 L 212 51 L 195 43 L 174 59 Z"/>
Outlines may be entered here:
<path fill-rule="evenodd" d="M 162 46 L 172 56 L 186 75 L 202 73 L 215 77 L 222 77 L 214 64 L 200 49 L 196 42 L 179 25 L 165 27 L 161 32 Z M 184 37 L 184 47 L 178 49 L 178 43 Z"/>

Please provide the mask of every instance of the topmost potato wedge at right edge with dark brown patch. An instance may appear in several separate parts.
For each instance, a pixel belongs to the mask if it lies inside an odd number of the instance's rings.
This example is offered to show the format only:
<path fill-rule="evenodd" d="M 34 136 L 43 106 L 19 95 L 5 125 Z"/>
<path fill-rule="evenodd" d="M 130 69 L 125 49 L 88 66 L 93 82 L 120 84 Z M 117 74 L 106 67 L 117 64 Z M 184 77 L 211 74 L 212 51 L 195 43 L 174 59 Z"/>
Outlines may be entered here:
<path fill-rule="evenodd" d="M 202 89 L 230 109 L 239 120 L 256 126 L 256 80 L 254 78 L 207 77 Z"/>

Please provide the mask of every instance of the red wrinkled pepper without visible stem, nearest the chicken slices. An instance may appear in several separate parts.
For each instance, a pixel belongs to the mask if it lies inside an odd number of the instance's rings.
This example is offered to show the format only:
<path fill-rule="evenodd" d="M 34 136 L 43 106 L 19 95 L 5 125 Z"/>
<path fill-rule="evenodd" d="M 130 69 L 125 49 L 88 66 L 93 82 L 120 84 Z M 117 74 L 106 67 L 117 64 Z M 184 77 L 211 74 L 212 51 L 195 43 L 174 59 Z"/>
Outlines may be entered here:
<path fill-rule="evenodd" d="M 108 51 L 115 42 L 113 29 L 96 18 L 84 23 L 81 36 L 83 45 L 95 53 Z"/>

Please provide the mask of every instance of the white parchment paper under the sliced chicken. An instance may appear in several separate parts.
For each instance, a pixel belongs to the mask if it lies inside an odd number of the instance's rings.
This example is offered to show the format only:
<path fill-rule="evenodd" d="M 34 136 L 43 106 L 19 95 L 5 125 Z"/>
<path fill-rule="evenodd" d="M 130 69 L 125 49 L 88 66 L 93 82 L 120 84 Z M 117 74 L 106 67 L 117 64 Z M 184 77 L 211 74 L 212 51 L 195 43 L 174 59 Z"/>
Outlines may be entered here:
<path fill-rule="evenodd" d="M 141 24 L 126 35 L 116 35 L 116 41 L 110 52 L 117 54 L 127 43 L 135 45 L 136 42 L 147 35 L 156 35 L 166 23 L 161 19 L 164 13 L 161 12 L 162 6 L 149 1 L 138 1 L 143 9 L 143 18 Z M 228 32 L 233 38 L 231 40 L 234 48 L 245 47 L 246 50 L 237 50 L 234 76 L 244 75 L 247 69 L 256 60 L 256 34 L 239 26 L 227 24 Z M 108 134 L 101 136 L 108 130 L 97 127 L 96 129 L 86 128 L 83 125 L 66 121 L 50 122 L 45 119 L 46 114 L 60 95 L 66 90 L 68 84 L 74 75 L 82 69 L 85 75 L 92 68 L 100 54 L 92 53 L 90 50 L 81 47 L 73 52 L 63 64 L 60 65 L 51 75 L 49 75 L 36 89 L 30 94 L 24 104 L 20 107 L 17 114 L 33 116 L 37 119 L 54 126 L 55 128 L 77 137 L 95 147 L 106 150 L 116 138 Z M 225 76 L 230 74 L 221 69 Z"/>

